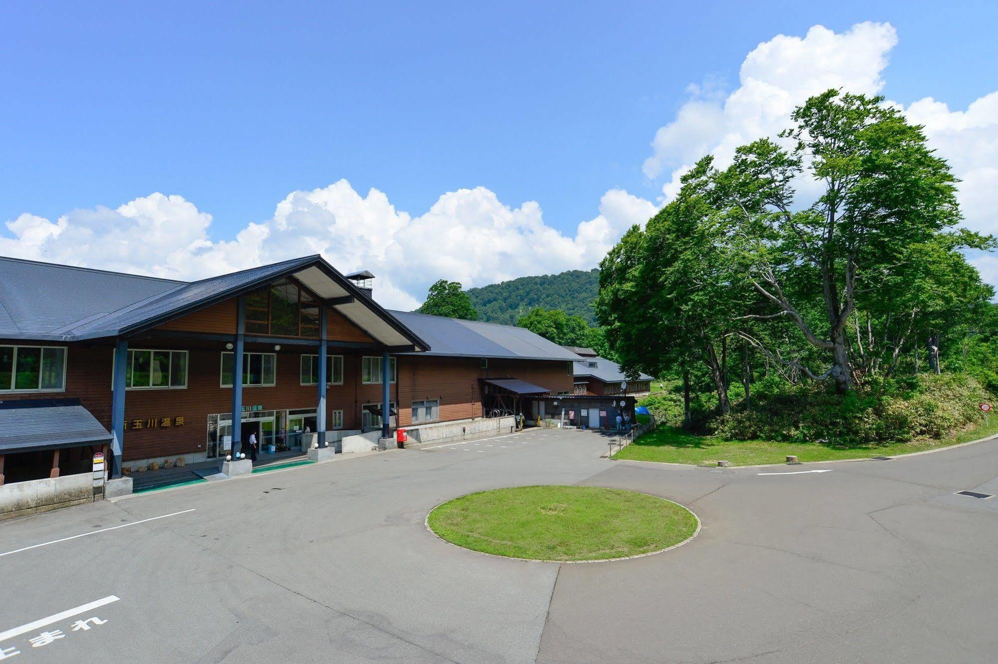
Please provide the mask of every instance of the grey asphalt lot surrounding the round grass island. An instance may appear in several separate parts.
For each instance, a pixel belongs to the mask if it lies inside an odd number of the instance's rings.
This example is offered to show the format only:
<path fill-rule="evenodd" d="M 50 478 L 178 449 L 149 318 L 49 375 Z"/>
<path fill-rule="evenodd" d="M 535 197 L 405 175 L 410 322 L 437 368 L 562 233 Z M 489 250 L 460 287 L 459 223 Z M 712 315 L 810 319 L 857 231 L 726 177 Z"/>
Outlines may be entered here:
<path fill-rule="evenodd" d="M 998 498 L 954 492 L 998 492 L 998 443 L 731 469 L 611 461 L 606 447 L 528 430 L 5 522 L 0 655 L 993 661 Z M 535 483 L 663 495 L 703 529 L 660 555 L 557 564 L 465 551 L 424 526 L 454 496 Z"/>

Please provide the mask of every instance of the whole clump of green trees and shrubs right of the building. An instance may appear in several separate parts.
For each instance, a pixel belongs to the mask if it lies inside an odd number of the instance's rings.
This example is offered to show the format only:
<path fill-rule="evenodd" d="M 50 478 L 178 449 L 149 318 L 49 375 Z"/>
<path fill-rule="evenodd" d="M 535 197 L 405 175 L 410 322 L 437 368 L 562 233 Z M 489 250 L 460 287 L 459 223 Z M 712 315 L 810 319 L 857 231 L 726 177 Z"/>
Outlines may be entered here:
<path fill-rule="evenodd" d="M 792 121 L 725 168 L 702 159 L 608 254 L 609 344 L 685 383 L 688 426 L 699 401 L 731 437 L 875 441 L 967 421 L 995 313 L 963 251 L 994 239 L 957 226 L 949 165 L 882 99 L 829 90 Z"/>

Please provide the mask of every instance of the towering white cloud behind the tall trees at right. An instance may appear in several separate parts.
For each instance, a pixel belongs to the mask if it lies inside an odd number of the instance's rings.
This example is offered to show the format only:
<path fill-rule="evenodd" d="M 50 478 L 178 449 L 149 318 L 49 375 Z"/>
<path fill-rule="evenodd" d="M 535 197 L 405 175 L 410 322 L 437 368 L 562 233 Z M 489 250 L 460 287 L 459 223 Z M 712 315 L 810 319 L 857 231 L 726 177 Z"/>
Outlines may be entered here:
<path fill-rule="evenodd" d="M 813 26 L 803 37 L 777 35 L 755 47 L 739 75 L 739 87 L 719 95 L 716 86 L 694 85 L 691 98 L 652 142 L 645 174 L 663 179 L 663 199 L 679 190 L 682 175 L 712 154 L 726 166 L 735 149 L 761 137 L 775 138 L 790 125 L 793 108 L 829 88 L 879 94 L 883 73 L 898 36 L 889 23 L 859 23 L 836 33 Z M 710 94 L 705 94 L 707 90 Z M 990 92 L 965 111 L 925 98 L 907 106 L 888 101 L 911 122 L 925 126 L 929 145 L 949 161 L 962 181 L 958 199 L 968 228 L 998 234 L 998 92 Z M 801 193 L 811 185 L 801 183 Z M 995 262 L 975 260 L 983 275 L 998 284 Z"/>

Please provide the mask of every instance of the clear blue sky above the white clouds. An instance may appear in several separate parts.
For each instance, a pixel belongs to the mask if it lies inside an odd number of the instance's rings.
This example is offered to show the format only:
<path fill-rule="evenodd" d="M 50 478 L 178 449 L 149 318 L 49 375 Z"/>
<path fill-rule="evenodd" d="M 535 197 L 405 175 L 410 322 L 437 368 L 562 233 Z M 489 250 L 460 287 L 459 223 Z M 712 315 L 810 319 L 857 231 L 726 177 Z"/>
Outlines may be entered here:
<path fill-rule="evenodd" d="M 229 241 L 345 179 L 413 217 L 482 187 L 574 236 L 610 190 L 661 204 L 656 131 L 778 34 L 889 23 L 880 90 L 902 105 L 998 89 L 994 3 L 483 4 L 6 3 L 0 221 L 160 192 Z"/>

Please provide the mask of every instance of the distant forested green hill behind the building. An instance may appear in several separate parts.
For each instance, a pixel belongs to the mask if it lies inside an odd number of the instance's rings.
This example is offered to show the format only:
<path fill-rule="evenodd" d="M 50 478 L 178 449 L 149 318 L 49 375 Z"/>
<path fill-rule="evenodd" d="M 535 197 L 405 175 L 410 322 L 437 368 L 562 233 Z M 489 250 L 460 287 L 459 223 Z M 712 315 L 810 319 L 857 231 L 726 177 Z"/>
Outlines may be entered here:
<path fill-rule="evenodd" d="M 599 270 L 570 270 L 559 275 L 521 277 L 469 289 L 467 293 L 480 321 L 515 326 L 521 316 L 535 307 L 543 307 L 581 316 L 595 326 L 593 302 L 599 290 Z"/>

